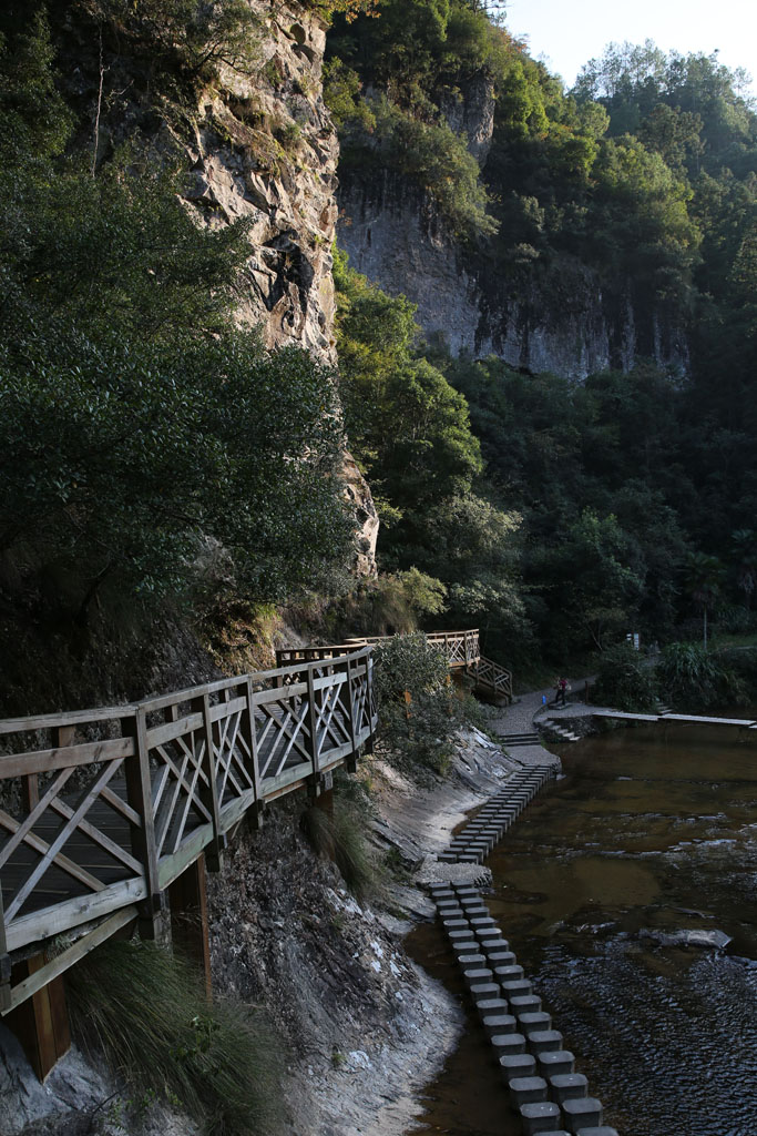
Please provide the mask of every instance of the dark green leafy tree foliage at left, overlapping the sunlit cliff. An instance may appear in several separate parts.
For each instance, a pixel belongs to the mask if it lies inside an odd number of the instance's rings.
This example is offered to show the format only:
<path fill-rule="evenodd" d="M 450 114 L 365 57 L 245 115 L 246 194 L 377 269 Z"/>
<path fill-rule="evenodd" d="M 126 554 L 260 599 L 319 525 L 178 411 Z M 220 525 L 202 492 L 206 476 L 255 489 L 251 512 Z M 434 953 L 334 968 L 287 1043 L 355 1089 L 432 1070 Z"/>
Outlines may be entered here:
<path fill-rule="evenodd" d="M 200 228 L 177 175 L 136 145 L 96 177 L 59 157 L 70 118 L 44 23 L 14 44 L 0 58 L 3 563 L 82 624 L 109 590 L 186 591 L 208 543 L 256 601 L 313 584 L 350 540 L 334 376 L 233 326 L 244 226 Z"/>

